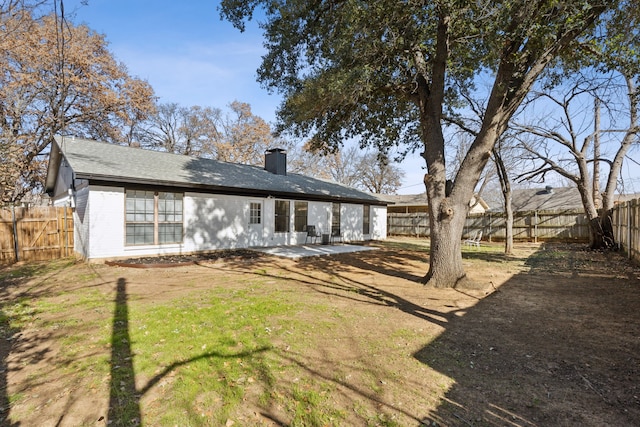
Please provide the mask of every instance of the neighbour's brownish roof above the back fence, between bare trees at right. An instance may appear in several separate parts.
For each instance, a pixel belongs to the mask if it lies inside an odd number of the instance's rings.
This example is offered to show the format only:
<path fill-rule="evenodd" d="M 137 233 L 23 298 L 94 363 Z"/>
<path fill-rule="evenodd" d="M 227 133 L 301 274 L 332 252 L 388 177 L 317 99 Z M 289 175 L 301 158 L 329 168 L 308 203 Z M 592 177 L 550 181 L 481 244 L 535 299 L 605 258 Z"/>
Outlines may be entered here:
<path fill-rule="evenodd" d="M 575 187 L 513 190 L 511 205 L 514 211 L 583 209 L 580 193 Z"/>

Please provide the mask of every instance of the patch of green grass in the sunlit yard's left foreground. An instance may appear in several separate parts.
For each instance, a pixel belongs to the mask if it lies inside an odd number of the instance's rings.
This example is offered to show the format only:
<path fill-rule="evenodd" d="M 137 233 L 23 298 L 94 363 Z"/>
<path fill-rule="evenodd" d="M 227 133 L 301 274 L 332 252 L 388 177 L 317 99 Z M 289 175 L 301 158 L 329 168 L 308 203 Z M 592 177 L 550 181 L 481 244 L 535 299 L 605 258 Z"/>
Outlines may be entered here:
<path fill-rule="evenodd" d="M 27 266 L 5 278 L 55 277 L 67 266 Z M 32 296 L 4 302 L 0 326 L 5 339 L 25 328 L 52 335 L 64 330 L 56 338 L 56 363 L 66 378 L 85 381 L 91 390 L 108 382 L 109 425 L 225 425 L 246 412 L 247 401 L 257 402 L 256 411 L 280 408 L 291 426 L 343 425 L 344 410 L 331 398 L 335 383 L 309 375 L 284 354 L 301 354 L 313 345 L 309 326 L 296 313 L 325 319 L 330 307 L 305 303 L 264 272 L 240 288 L 213 287 L 153 303 L 128 295 L 125 281 L 118 283 L 115 298 L 91 286 L 46 294 L 36 286 Z M 329 333 L 337 321 L 329 315 L 315 322 L 314 334 Z M 28 401 L 29 385 L 43 375 L 33 374 L 8 395 L 9 402 Z"/>

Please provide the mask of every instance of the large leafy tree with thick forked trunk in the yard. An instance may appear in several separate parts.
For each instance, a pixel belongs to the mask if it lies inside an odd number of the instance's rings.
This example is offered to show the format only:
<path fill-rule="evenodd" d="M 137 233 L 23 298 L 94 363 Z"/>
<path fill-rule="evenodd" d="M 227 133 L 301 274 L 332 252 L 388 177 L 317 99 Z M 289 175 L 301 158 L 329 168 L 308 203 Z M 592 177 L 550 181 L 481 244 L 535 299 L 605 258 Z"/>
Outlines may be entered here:
<path fill-rule="evenodd" d="M 261 16 L 267 53 L 258 79 L 284 101 L 279 129 L 311 134 L 335 149 L 365 144 L 421 151 L 430 209 L 424 282 L 465 278 L 461 236 L 469 200 L 499 136 L 532 85 L 563 53 L 595 40 L 612 0 L 223 0 L 221 14 L 243 30 Z M 463 90 L 489 82 L 483 119 L 447 186 L 445 125 L 464 108 Z M 451 120 L 451 121 L 449 121 Z"/>

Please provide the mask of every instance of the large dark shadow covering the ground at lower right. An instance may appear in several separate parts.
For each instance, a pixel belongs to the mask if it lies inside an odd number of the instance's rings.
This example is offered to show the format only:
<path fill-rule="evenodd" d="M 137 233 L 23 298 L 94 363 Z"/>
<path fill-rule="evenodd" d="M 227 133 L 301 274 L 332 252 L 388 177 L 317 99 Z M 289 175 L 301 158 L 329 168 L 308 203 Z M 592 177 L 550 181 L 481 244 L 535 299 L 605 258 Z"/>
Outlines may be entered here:
<path fill-rule="evenodd" d="M 414 354 L 453 380 L 424 424 L 638 425 L 640 283 L 580 255 L 534 254 Z"/>

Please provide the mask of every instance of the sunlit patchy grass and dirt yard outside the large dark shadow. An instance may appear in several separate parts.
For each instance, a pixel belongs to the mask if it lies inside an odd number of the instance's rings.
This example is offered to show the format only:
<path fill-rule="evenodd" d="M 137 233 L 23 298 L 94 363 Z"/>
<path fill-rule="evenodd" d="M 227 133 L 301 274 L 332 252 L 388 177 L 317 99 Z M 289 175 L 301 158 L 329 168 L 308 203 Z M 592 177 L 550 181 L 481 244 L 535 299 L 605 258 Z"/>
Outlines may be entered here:
<path fill-rule="evenodd" d="M 405 262 L 426 269 L 428 240 L 383 246 L 400 251 L 393 255 L 399 267 L 386 270 L 388 257 L 369 255 L 363 270 L 338 259 L 289 270 L 267 261 L 241 275 L 233 267 L 142 273 L 69 260 L 0 270 L 2 337 L 29 367 L 7 388 L 9 421 L 36 419 L 42 403 L 33 403 L 32 390 L 48 382 L 108 398 L 104 419 L 112 426 L 262 425 L 265 417 L 312 427 L 415 422 L 451 382 L 425 370 L 412 352 L 437 337 L 454 305 L 389 275 L 408 269 Z M 463 247 L 463 258 L 502 263 L 501 250 L 499 243 Z M 154 281 L 165 278 L 174 288 L 158 289 L 176 296 L 155 295 Z M 387 287 L 394 280 L 415 295 Z M 456 306 L 460 295 L 453 294 Z M 429 301 L 441 305 L 422 311 Z M 23 332 L 51 347 L 31 352 L 39 343 Z"/>

